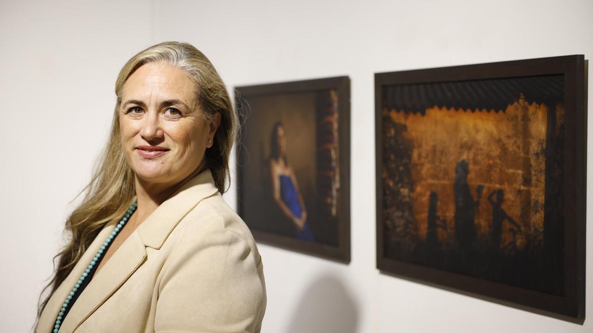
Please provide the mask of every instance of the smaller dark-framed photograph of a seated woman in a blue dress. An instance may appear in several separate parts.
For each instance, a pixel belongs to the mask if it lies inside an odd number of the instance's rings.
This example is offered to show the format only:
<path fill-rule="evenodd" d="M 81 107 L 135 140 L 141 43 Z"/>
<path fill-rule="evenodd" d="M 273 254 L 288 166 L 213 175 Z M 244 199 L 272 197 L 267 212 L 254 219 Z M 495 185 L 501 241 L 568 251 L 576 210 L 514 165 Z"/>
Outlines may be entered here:
<path fill-rule="evenodd" d="M 237 209 L 257 241 L 350 261 L 350 79 L 235 88 Z"/>

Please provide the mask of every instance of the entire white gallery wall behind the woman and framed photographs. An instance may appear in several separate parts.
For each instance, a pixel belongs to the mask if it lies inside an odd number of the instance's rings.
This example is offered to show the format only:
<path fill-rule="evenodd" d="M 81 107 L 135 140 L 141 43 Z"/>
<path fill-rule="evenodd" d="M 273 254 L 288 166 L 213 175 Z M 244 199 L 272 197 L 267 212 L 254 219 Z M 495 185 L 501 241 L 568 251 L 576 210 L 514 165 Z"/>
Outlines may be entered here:
<path fill-rule="evenodd" d="M 593 331 L 591 318 L 572 324 L 377 271 L 373 97 L 375 72 L 577 53 L 590 58 L 592 1 L 42 4 L 0 4 L 2 331 L 26 331 L 33 322 L 72 209 L 68 202 L 88 180 L 106 137 L 117 71 L 133 53 L 164 40 L 194 44 L 229 87 L 352 79 L 352 261 L 260 245 L 264 332 Z M 588 95 L 591 105 L 591 88 Z M 591 140 L 589 148 L 593 156 Z M 234 204 L 234 191 L 225 197 Z"/>

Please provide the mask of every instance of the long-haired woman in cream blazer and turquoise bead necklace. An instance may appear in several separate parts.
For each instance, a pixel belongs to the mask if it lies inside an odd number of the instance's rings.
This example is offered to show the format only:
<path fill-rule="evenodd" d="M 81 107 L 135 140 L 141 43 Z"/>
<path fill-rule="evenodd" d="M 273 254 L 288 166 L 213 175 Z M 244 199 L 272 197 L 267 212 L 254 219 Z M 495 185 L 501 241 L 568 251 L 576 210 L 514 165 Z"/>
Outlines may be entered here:
<path fill-rule="evenodd" d="M 157 44 L 126 63 L 116 96 L 36 331 L 259 332 L 262 261 L 221 196 L 237 115 L 212 63 Z"/>

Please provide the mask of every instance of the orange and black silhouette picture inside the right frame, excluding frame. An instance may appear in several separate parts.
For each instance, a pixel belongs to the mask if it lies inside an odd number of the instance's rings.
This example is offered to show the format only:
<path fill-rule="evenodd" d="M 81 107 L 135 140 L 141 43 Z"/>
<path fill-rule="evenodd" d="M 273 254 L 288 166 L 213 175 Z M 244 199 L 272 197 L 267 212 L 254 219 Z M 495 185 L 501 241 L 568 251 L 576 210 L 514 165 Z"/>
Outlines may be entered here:
<path fill-rule="evenodd" d="M 382 88 L 387 258 L 563 296 L 563 79 Z"/>

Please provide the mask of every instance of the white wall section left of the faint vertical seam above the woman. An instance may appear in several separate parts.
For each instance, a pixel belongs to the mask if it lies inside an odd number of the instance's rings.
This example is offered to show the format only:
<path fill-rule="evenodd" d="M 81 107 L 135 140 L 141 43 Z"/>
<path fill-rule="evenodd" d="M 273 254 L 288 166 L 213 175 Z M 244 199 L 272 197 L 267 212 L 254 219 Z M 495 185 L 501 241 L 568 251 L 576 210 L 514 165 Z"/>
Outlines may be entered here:
<path fill-rule="evenodd" d="M 90 180 L 127 58 L 152 43 L 144 1 L 0 2 L 0 322 L 27 332 Z"/>

